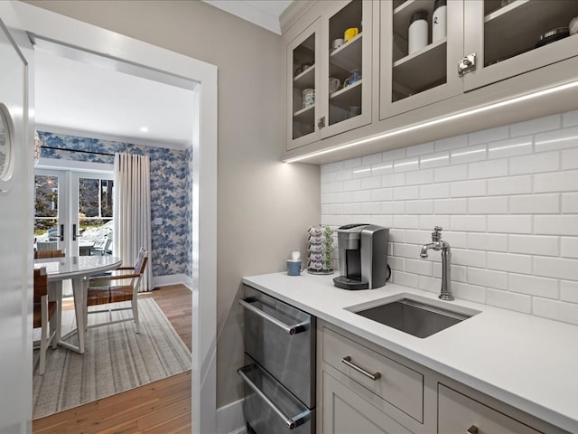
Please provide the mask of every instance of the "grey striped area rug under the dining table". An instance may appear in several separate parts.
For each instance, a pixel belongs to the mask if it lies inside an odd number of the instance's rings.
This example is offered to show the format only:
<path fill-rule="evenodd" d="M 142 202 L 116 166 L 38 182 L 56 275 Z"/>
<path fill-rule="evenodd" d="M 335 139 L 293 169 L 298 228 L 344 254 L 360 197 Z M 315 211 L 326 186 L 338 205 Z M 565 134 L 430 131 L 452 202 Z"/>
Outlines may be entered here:
<path fill-rule="evenodd" d="M 114 312 L 113 317 L 129 312 Z M 34 351 L 33 420 L 191 370 L 191 352 L 154 299 L 139 299 L 138 313 L 138 335 L 127 321 L 90 328 L 85 354 L 49 348 L 44 375 L 38 375 L 40 355 Z M 89 324 L 107 315 L 90 315 Z M 63 334 L 74 324 L 74 312 L 63 311 Z M 76 335 L 70 343 L 78 343 Z"/>

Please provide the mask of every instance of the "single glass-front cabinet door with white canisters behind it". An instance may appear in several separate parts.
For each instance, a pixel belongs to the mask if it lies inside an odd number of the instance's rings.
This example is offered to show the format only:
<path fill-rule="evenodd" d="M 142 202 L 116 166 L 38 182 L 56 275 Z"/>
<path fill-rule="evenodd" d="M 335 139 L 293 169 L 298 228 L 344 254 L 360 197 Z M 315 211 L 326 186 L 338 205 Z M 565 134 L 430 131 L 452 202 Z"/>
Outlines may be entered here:
<path fill-rule="evenodd" d="M 380 2 L 380 29 L 381 119 L 461 93 L 461 0 Z"/>

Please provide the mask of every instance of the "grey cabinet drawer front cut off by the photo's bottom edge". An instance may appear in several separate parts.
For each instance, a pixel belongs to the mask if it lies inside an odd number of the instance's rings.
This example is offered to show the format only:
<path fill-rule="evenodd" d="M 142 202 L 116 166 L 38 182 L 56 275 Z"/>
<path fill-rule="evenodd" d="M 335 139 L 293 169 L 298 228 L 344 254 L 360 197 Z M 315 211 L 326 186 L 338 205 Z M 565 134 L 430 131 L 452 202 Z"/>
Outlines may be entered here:
<path fill-rule="evenodd" d="M 498 410 L 438 384 L 438 432 L 462 434 L 471 427 L 476 427 L 478 434 L 540 433 Z"/>

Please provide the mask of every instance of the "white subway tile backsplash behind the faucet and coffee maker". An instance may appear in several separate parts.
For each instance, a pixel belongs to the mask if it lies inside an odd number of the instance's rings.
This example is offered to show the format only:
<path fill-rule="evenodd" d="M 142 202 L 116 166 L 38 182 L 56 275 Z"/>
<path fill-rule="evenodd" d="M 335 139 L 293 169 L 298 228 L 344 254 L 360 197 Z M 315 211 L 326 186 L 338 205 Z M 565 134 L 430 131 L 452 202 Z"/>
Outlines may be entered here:
<path fill-rule="evenodd" d="M 322 165 L 322 223 L 390 229 L 393 281 L 578 324 L 578 110 Z"/>

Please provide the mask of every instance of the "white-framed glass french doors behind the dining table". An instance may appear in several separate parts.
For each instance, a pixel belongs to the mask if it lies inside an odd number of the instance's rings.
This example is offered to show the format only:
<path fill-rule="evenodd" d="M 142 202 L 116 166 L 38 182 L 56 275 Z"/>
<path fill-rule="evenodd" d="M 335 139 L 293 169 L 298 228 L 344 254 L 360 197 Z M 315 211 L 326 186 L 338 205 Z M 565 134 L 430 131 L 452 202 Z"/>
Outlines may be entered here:
<path fill-rule="evenodd" d="M 67 256 L 108 255 L 113 240 L 112 173 L 36 169 L 34 247 Z"/>

